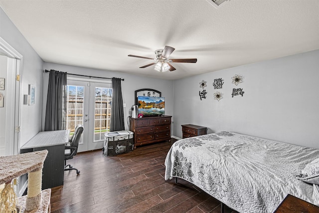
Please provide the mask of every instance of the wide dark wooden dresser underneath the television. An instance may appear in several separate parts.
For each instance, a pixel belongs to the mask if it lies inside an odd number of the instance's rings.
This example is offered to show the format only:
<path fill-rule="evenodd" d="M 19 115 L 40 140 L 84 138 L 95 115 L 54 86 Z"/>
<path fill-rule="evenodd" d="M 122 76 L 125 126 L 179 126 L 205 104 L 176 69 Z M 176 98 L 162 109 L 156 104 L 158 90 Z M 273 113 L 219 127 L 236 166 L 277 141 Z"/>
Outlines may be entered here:
<path fill-rule="evenodd" d="M 170 141 L 171 116 L 131 118 L 130 130 L 134 132 L 134 147 L 159 141 Z"/>

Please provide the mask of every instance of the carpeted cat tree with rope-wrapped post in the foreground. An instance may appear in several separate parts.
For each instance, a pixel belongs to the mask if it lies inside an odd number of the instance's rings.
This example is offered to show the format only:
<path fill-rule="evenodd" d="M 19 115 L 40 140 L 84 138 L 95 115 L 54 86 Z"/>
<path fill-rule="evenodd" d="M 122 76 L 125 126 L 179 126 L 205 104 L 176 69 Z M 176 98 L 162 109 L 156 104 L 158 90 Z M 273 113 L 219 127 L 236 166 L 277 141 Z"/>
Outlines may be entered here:
<path fill-rule="evenodd" d="M 50 213 L 51 189 L 42 190 L 42 168 L 48 151 L 0 157 L 0 213 Z M 28 173 L 27 195 L 16 198 L 11 181 Z"/>

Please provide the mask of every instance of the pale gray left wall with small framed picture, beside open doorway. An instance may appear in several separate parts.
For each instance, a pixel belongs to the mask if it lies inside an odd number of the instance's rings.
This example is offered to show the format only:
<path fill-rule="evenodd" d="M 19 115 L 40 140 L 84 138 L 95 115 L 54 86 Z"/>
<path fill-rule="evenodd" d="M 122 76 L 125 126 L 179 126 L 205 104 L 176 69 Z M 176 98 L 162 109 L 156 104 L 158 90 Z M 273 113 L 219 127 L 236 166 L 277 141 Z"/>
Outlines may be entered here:
<path fill-rule="evenodd" d="M 35 86 L 35 104 L 21 105 L 20 146 L 23 146 L 41 130 L 43 61 L 2 8 L 0 8 L 0 37 L 23 56 L 20 72 L 21 95 L 28 94 L 29 84 Z"/>

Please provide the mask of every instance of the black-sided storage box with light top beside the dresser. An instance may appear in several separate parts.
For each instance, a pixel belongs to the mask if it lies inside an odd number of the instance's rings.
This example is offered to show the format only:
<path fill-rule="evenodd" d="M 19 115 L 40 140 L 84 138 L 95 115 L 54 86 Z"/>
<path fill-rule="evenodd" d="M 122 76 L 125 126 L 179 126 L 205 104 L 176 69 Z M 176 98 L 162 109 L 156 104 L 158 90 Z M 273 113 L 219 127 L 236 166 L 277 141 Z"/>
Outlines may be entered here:
<path fill-rule="evenodd" d="M 104 133 L 103 154 L 105 156 L 115 156 L 133 151 L 133 134 L 131 131 Z"/>

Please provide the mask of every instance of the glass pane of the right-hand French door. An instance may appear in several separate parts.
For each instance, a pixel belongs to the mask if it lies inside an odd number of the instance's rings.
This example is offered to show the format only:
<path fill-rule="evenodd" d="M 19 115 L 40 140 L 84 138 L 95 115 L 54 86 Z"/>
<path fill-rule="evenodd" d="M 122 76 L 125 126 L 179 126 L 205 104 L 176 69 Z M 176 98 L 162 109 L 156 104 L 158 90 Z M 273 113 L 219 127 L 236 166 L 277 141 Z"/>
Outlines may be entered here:
<path fill-rule="evenodd" d="M 94 142 L 104 140 L 110 132 L 112 89 L 95 87 Z"/>

